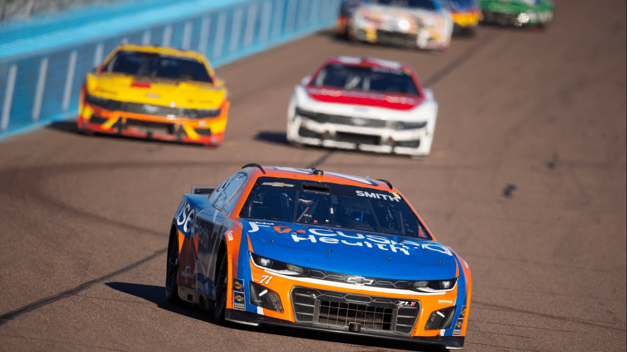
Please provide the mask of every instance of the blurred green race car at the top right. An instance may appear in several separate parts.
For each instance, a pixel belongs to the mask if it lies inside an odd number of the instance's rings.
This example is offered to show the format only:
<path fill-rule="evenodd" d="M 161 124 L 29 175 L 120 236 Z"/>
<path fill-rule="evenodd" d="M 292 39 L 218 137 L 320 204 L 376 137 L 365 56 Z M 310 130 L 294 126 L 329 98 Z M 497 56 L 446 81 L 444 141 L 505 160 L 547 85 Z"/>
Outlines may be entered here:
<path fill-rule="evenodd" d="M 551 0 L 481 0 L 483 23 L 544 27 L 553 19 Z"/>

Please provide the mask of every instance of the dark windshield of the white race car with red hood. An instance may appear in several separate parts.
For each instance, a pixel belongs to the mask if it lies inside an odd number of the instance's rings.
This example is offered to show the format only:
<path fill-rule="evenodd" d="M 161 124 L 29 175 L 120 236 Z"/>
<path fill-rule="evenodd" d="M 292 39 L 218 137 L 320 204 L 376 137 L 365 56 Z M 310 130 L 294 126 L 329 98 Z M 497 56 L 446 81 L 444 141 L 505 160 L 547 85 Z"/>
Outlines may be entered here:
<path fill-rule="evenodd" d="M 329 64 L 312 80 L 314 86 L 419 95 L 411 75 L 385 68 Z"/>

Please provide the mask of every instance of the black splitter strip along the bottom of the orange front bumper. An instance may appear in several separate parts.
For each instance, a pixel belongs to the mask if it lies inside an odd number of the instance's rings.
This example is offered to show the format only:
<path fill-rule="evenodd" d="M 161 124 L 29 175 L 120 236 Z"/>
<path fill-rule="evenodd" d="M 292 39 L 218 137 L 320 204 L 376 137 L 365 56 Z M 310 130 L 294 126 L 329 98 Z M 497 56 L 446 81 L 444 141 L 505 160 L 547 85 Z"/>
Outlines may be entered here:
<path fill-rule="evenodd" d="M 461 349 L 464 345 L 464 336 L 407 336 L 401 334 L 377 334 L 372 331 L 362 331 L 359 333 L 349 331 L 347 326 L 337 326 L 319 323 L 292 323 L 291 321 L 261 316 L 259 314 L 240 311 L 236 309 L 226 309 L 225 318 L 233 323 L 248 324 L 253 326 L 271 325 L 283 326 L 287 328 L 308 329 L 313 331 L 324 331 L 327 333 L 340 333 L 351 336 L 369 336 L 373 338 L 391 339 L 396 341 L 407 341 L 419 344 L 438 345 L 448 349 Z"/>

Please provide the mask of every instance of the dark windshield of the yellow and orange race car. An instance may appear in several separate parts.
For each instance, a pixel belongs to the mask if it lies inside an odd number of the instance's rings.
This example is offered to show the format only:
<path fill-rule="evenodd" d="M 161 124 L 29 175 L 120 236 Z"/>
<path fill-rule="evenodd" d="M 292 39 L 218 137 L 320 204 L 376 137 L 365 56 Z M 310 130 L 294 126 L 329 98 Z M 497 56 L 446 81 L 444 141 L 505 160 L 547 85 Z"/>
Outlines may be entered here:
<path fill-rule="evenodd" d="M 142 51 L 119 51 L 109 61 L 104 71 L 168 80 L 213 83 L 205 66 L 192 58 Z"/>

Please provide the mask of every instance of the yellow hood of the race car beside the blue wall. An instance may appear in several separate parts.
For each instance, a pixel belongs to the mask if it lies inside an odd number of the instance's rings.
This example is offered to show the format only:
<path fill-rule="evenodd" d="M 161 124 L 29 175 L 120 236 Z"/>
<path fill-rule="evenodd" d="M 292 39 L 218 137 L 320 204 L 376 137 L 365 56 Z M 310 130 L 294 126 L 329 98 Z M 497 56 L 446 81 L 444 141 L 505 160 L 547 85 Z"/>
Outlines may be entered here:
<path fill-rule="evenodd" d="M 102 98 L 164 106 L 174 103 L 196 109 L 219 108 L 226 98 L 226 89 L 210 83 L 151 80 L 117 73 L 90 73 L 86 85 L 90 94 Z"/>

